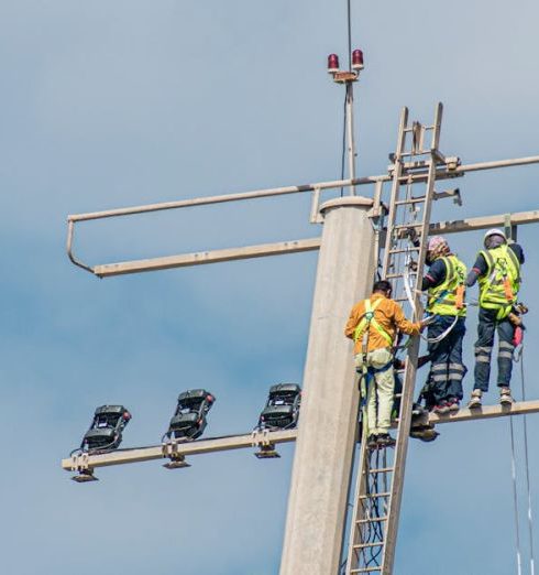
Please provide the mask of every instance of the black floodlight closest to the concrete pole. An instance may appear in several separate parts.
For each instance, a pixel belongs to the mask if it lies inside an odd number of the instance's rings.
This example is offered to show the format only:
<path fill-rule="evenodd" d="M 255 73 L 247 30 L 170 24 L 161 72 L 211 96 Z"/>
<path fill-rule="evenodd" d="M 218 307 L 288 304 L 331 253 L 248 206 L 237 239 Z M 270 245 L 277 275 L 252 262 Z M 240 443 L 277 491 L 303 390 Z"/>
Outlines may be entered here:
<path fill-rule="evenodd" d="M 260 414 L 258 430 L 293 430 L 299 417 L 301 388 L 296 383 L 278 383 L 270 388 L 266 406 Z"/>

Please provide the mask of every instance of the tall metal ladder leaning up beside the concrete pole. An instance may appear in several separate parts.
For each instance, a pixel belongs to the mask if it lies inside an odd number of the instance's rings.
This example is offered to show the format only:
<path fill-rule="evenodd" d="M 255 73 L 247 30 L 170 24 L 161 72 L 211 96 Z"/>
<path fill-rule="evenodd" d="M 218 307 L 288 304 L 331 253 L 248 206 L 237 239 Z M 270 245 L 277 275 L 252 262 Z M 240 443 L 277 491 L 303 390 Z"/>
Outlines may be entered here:
<path fill-rule="evenodd" d="M 419 122 L 408 126 L 408 109 L 404 108 L 397 150 L 392 156 L 393 185 L 383 278 L 392 282 L 397 301 L 414 302 L 415 321 L 420 319 L 422 315 L 419 291 L 428 242 L 431 203 L 436 199 L 436 171 L 440 164 L 446 166 L 446 159 L 438 151 L 441 119 L 442 105 L 438 104 L 432 126 L 422 126 Z M 431 144 L 425 150 L 428 132 L 431 134 Z M 406 151 L 407 144 L 408 151 Z M 407 177 L 418 173 L 425 173 L 425 178 L 420 178 L 419 184 L 417 180 L 411 181 Z M 413 187 L 418 185 L 424 186 L 421 195 L 413 195 Z M 410 241 L 410 229 L 415 230 L 415 242 Z M 419 338 L 415 337 L 408 347 L 408 359 L 403 376 L 395 451 L 369 449 L 365 445 L 366 441 L 362 441 L 361 444 L 346 575 L 393 573 L 418 351 Z"/>

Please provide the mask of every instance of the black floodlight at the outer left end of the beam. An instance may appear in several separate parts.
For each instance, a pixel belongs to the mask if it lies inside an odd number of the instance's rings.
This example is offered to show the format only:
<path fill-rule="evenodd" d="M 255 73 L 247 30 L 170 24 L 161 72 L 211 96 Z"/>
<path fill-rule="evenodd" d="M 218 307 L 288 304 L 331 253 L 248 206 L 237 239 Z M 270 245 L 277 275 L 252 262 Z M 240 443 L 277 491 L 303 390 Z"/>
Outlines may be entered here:
<path fill-rule="evenodd" d="M 122 432 L 131 420 L 123 405 L 101 405 L 94 414 L 90 428 L 82 438 L 80 449 L 88 453 L 117 449 L 122 443 Z"/>

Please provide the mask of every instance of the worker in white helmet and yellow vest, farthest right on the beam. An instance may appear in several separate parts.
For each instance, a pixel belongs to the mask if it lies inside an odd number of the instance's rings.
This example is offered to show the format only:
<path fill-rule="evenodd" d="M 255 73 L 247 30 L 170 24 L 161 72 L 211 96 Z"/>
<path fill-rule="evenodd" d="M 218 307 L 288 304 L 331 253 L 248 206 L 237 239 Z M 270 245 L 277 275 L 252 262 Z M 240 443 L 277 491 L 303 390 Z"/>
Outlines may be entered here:
<path fill-rule="evenodd" d="M 480 321 L 475 343 L 474 389 L 470 408 L 481 406 L 484 392 L 488 391 L 491 356 L 494 334 L 498 333 L 498 388 L 501 403 L 513 403 L 510 377 L 513 369 L 513 338 L 515 326 L 509 314 L 517 302 L 520 288 L 520 264 L 524 263 L 522 248 L 509 243 L 501 229 L 490 229 L 484 237 L 484 250 L 477 253 L 470 271 L 466 285 L 480 284 Z"/>

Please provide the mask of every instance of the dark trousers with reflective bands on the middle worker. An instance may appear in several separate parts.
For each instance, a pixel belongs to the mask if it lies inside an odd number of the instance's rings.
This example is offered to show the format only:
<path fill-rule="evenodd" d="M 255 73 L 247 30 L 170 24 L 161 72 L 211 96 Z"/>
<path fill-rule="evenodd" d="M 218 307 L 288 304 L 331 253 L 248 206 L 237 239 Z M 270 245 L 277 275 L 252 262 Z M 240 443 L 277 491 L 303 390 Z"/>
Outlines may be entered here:
<path fill-rule="evenodd" d="M 428 338 L 439 337 L 453 322 L 452 315 L 437 315 L 436 321 L 429 325 Z M 437 405 L 448 399 L 462 399 L 462 379 L 466 372 L 462 362 L 462 340 L 465 333 L 464 317 L 459 317 L 443 339 L 428 345 L 431 359 L 429 378 Z"/>

